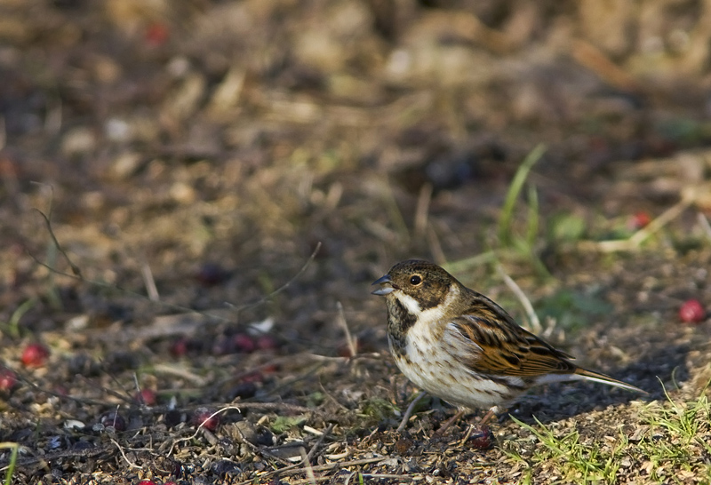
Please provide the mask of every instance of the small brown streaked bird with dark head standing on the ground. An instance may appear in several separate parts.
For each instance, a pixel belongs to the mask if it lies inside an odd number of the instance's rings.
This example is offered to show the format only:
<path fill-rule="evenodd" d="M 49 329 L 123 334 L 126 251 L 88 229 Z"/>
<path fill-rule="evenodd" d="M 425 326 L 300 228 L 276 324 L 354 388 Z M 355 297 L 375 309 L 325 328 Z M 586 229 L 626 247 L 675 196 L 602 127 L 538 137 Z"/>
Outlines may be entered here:
<path fill-rule="evenodd" d="M 483 423 L 532 386 L 551 382 L 591 380 L 646 394 L 578 367 L 440 266 L 403 261 L 373 284 L 381 285 L 373 294 L 387 298 L 387 341 L 397 367 L 415 386 L 457 406 L 456 417 L 489 409 Z"/>

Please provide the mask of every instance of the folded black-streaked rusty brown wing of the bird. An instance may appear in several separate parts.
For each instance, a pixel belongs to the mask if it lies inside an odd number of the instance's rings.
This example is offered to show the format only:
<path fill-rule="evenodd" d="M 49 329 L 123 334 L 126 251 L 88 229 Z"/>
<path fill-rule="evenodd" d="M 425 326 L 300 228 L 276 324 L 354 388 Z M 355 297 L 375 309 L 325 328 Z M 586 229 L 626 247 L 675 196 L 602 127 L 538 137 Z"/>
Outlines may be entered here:
<path fill-rule="evenodd" d="M 492 376 L 536 377 L 570 374 L 572 357 L 517 325 L 491 299 L 478 295 L 444 330 L 451 353 L 469 369 Z"/>

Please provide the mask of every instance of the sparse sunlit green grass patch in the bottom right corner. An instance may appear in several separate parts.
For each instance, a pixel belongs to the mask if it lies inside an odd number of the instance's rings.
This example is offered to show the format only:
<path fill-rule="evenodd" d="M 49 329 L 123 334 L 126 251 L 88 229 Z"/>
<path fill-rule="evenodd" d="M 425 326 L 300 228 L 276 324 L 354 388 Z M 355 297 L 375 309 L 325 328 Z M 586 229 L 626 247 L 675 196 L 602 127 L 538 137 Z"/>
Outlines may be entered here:
<path fill-rule="evenodd" d="M 609 426 L 617 436 L 607 439 L 590 436 L 595 430 L 589 425 L 582 432 L 577 425 L 559 430 L 512 417 L 531 436 L 509 441 L 507 456 L 527 465 L 534 481 L 543 475 L 556 477 L 556 483 L 711 482 L 711 407 L 705 392 L 687 402 L 667 395 L 666 402 L 637 409 Z"/>

